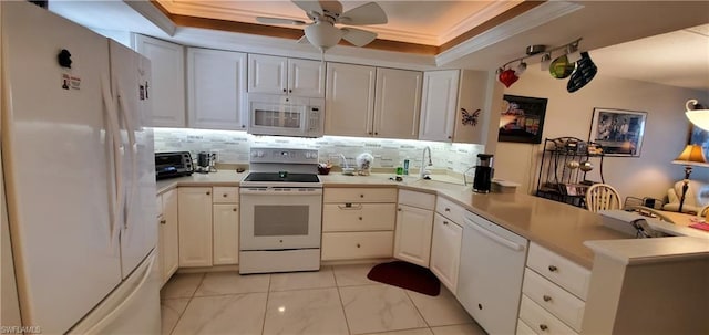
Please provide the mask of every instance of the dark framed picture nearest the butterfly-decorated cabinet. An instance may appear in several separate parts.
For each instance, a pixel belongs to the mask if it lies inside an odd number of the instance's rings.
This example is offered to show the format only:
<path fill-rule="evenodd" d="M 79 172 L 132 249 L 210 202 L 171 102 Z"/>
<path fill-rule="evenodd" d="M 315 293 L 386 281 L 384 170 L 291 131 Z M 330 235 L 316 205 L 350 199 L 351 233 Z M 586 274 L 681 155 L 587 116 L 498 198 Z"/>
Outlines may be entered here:
<path fill-rule="evenodd" d="M 497 140 L 541 144 L 546 104 L 543 97 L 505 94 Z"/>

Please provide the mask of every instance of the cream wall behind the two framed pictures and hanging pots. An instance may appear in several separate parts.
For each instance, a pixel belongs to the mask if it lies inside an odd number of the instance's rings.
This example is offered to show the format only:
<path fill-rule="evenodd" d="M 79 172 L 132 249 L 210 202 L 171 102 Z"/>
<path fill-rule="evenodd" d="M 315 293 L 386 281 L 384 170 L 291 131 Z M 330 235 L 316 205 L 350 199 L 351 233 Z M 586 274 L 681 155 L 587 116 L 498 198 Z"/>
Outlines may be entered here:
<path fill-rule="evenodd" d="M 530 65 L 516 83 L 503 90 L 503 94 L 545 97 L 548 104 L 541 145 L 497 143 L 495 177 L 520 182 L 533 193 L 544 138 L 573 136 L 587 140 L 594 107 L 605 107 L 648 114 L 640 157 L 605 157 L 606 184 L 616 187 L 623 198 L 662 199 L 667 189 L 684 178 L 682 166 L 670 161 L 688 142 L 690 124 L 684 114 L 685 103 L 689 98 L 709 102 L 709 92 L 615 78 L 604 75 L 603 64 L 596 65 L 596 77 L 575 93 L 566 92 L 566 80 L 553 78 L 540 71 L 538 64 Z M 599 180 L 594 177 L 597 170 L 588 179 Z M 709 181 L 709 168 L 695 168 L 691 178 Z"/>

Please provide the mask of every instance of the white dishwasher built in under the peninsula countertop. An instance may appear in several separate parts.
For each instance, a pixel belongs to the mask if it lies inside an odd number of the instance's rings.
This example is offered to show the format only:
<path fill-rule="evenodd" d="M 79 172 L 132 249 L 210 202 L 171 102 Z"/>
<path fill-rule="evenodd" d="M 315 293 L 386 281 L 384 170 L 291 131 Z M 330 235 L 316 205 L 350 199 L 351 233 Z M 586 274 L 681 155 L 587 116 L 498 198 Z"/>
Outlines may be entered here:
<path fill-rule="evenodd" d="M 527 240 L 465 212 L 458 300 L 489 334 L 514 334 Z"/>

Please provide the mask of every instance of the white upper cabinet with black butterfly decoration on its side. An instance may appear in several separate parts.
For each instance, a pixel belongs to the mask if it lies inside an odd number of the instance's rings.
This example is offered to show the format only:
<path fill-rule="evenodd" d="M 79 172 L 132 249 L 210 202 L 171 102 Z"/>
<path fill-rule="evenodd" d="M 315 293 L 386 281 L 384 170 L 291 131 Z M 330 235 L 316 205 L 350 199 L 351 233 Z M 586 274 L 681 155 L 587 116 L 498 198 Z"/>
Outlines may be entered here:
<path fill-rule="evenodd" d="M 483 144 L 486 87 L 485 72 L 425 72 L 419 139 Z"/>

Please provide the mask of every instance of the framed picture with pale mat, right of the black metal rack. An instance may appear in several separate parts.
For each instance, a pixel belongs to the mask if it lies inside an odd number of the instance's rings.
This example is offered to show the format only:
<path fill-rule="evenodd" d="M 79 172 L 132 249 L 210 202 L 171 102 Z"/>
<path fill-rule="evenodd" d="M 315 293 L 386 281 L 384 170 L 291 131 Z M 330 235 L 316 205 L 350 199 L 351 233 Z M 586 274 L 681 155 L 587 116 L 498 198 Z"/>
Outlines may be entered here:
<path fill-rule="evenodd" d="M 588 142 L 599 144 L 605 156 L 640 157 L 647 112 L 594 108 Z"/>

